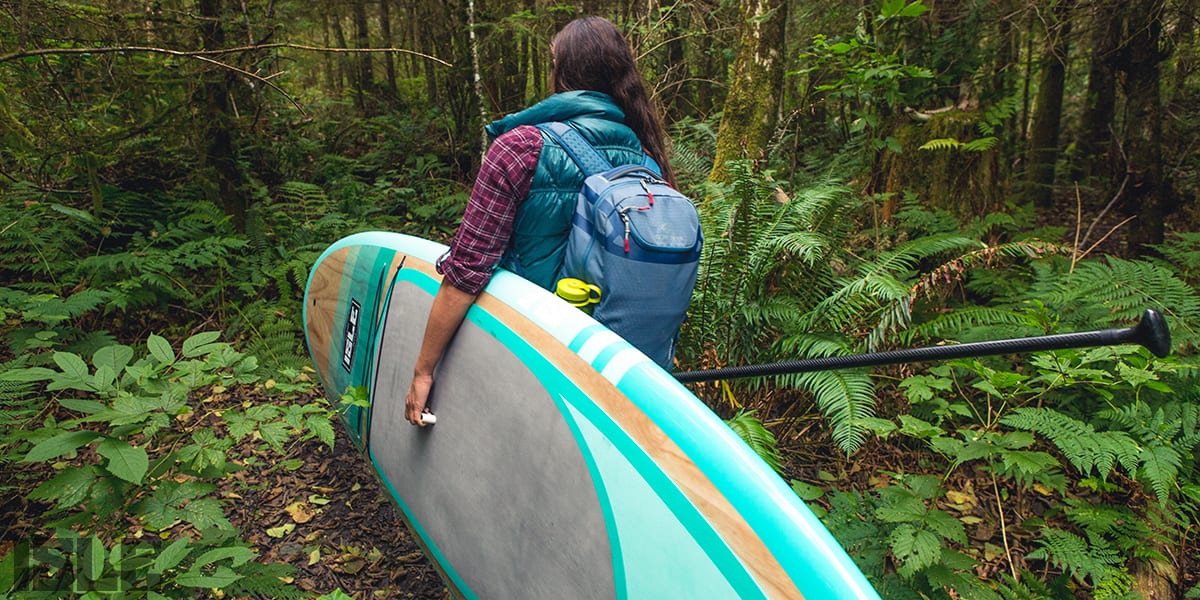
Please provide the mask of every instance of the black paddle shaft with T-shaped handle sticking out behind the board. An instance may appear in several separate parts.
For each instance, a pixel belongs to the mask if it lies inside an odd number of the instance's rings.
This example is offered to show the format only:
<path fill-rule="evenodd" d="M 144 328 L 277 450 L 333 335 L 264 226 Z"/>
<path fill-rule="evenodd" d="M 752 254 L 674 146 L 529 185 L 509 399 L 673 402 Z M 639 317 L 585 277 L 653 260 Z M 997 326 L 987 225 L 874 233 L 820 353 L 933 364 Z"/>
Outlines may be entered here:
<path fill-rule="evenodd" d="M 1102 329 L 1075 334 L 1056 334 L 1049 336 L 1018 337 L 1013 340 L 992 340 L 952 346 L 930 346 L 908 348 L 905 350 L 870 352 L 865 354 L 847 354 L 820 359 L 790 360 L 767 365 L 743 365 L 736 367 L 708 368 L 673 373 L 683 383 L 713 382 L 716 379 L 737 379 L 743 377 L 762 377 L 788 373 L 808 373 L 812 371 L 833 371 L 836 368 L 868 367 L 876 365 L 895 365 L 899 362 L 922 362 L 942 359 L 961 359 L 966 356 L 990 356 L 1020 352 L 1061 350 L 1064 348 L 1091 348 L 1096 346 L 1116 346 L 1135 343 L 1145 347 L 1156 356 L 1166 356 L 1171 352 L 1171 332 L 1166 320 L 1153 308 L 1146 308 L 1141 322 L 1128 329 Z"/>

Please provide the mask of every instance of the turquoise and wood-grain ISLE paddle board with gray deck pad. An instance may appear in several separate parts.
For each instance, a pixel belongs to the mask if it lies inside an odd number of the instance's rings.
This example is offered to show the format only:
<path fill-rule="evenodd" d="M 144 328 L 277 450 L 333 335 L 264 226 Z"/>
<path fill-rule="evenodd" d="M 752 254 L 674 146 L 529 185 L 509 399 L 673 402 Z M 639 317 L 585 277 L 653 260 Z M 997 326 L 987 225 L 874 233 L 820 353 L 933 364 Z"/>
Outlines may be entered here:
<path fill-rule="evenodd" d="M 308 350 L 409 528 L 460 598 L 806 598 L 877 593 L 695 395 L 582 311 L 503 270 L 468 311 L 431 402 L 404 415 L 445 246 L 330 246 L 305 292 Z"/>

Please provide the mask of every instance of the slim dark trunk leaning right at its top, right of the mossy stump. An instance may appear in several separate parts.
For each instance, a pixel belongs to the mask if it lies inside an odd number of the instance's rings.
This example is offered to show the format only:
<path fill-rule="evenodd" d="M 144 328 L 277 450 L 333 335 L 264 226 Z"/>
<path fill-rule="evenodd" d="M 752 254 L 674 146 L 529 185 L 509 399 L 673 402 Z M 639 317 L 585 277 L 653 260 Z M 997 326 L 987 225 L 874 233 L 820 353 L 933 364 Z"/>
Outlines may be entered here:
<path fill-rule="evenodd" d="M 1042 77 L 1033 106 L 1025 173 L 1027 197 L 1039 211 L 1054 210 L 1055 163 L 1058 161 L 1058 131 L 1062 125 L 1062 96 L 1067 78 L 1068 37 L 1073 4 L 1057 5 L 1042 55 Z"/>

